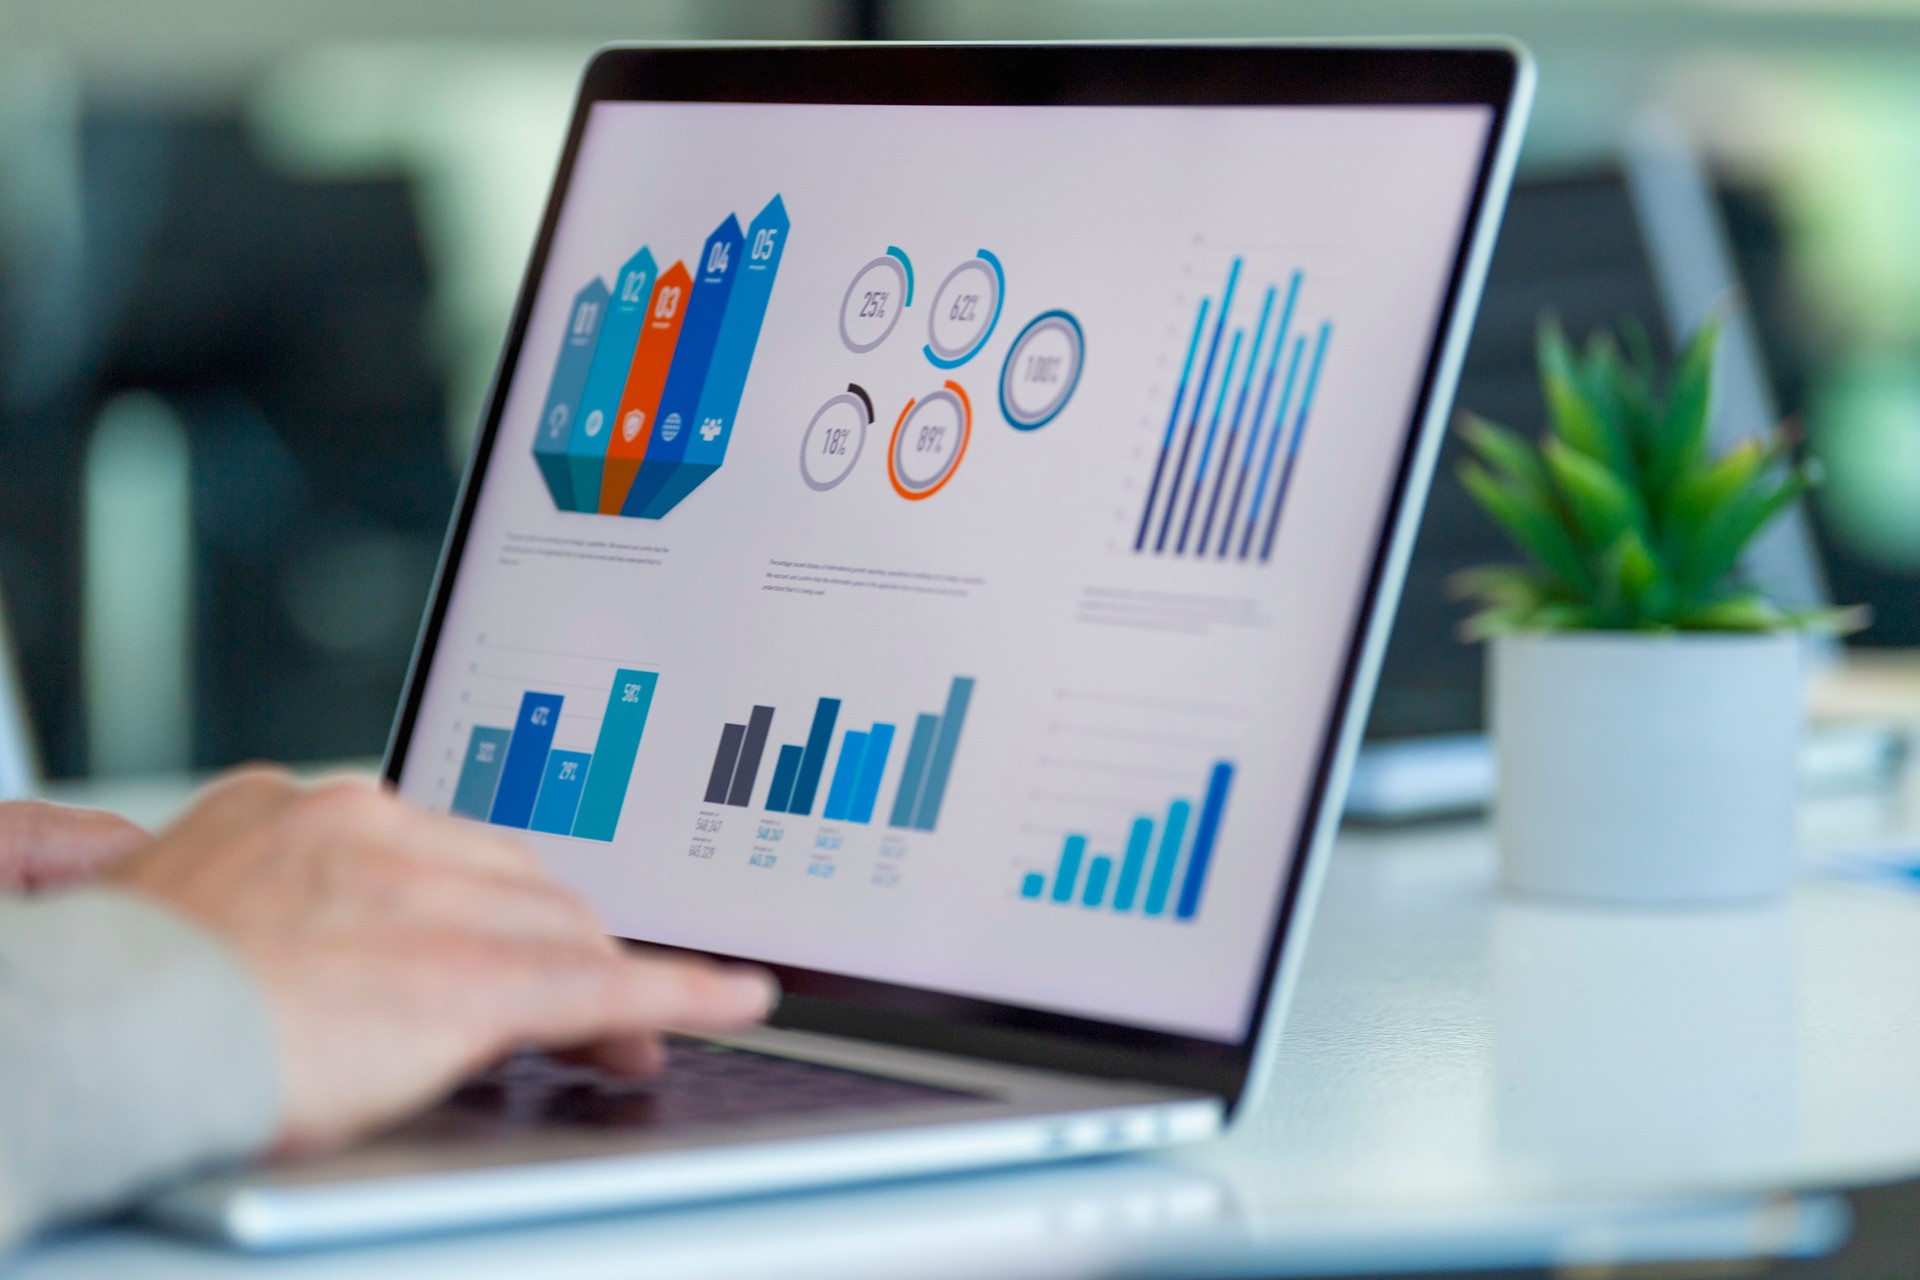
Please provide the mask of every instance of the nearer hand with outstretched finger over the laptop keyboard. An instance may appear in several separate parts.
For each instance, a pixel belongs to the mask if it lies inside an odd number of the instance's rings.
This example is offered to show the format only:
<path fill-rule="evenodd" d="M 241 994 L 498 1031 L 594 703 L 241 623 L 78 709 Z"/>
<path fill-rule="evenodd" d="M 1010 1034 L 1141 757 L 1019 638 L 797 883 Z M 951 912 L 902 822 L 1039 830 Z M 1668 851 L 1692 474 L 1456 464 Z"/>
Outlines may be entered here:
<path fill-rule="evenodd" d="M 344 1144 L 522 1048 L 660 1061 L 657 1032 L 760 1021 L 774 981 L 647 956 L 530 852 L 361 783 L 250 770 L 108 879 L 227 938 L 273 1009 L 278 1148 Z"/>

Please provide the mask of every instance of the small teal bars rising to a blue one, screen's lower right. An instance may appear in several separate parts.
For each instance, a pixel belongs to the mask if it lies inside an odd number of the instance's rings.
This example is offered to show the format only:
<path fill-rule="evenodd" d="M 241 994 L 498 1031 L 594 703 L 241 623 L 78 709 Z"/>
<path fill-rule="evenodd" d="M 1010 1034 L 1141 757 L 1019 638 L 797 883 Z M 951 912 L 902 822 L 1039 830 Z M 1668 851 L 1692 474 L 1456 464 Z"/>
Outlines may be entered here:
<path fill-rule="evenodd" d="M 1020 896 L 1108 913 L 1192 919 L 1206 894 L 1231 789 L 1233 764 L 1215 760 L 1198 806 L 1192 798 L 1175 798 L 1158 816 L 1137 816 L 1121 848 L 1092 850 L 1087 835 L 1069 831 L 1052 877 L 1027 871 Z"/>

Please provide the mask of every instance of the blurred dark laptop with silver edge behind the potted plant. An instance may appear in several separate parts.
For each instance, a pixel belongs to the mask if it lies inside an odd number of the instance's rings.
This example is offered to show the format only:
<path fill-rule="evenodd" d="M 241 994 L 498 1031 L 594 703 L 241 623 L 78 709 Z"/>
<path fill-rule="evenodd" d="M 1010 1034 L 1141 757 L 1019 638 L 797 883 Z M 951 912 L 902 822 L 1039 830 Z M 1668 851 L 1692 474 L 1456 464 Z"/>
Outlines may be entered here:
<path fill-rule="evenodd" d="M 1738 299 L 1734 261 L 1697 161 L 1649 127 L 1617 163 L 1523 178 L 1513 188 L 1455 403 L 1526 436 L 1546 426 L 1534 336 L 1557 315 L 1578 344 L 1638 320 L 1663 367 L 1716 305 Z M 1713 434 L 1724 447 L 1776 424 L 1753 322 L 1736 311 L 1720 349 Z M 1482 647 L 1459 626 L 1469 608 L 1448 581 L 1515 551 L 1455 480 L 1463 445 L 1448 436 L 1407 568 L 1369 748 L 1350 814 L 1404 819 L 1484 806 L 1494 764 L 1482 731 Z M 1784 604 L 1824 603 L 1801 512 L 1764 537 L 1745 572 Z"/>

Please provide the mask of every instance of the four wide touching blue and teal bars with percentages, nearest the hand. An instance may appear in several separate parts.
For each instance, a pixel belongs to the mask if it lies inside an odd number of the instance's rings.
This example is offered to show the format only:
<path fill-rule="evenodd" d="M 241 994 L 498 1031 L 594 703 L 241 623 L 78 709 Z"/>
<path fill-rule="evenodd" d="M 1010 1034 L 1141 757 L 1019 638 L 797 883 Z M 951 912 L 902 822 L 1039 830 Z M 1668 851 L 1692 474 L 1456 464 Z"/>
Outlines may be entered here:
<path fill-rule="evenodd" d="M 497 827 L 612 841 L 657 683 L 655 672 L 614 672 L 591 752 L 553 745 L 563 695 L 526 691 L 511 729 L 474 725 L 468 733 L 453 812 Z"/>

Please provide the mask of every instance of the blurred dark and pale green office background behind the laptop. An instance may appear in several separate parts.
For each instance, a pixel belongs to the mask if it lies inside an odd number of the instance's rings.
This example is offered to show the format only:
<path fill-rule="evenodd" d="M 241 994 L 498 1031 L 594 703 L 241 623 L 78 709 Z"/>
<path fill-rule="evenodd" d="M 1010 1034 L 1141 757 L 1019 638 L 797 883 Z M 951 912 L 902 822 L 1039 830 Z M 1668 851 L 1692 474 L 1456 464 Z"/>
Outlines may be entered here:
<path fill-rule="evenodd" d="M 1620 138 L 1680 121 L 1855 643 L 1920 645 L 1920 0 L 0 0 L 0 608 L 46 771 L 380 750 L 595 44 L 1488 33 L 1574 192 L 1528 278 L 1645 319 L 1588 249 Z M 1524 426 L 1526 386 L 1484 349 L 1463 403 Z M 1448 624 L 1413 666 L 1476 662 Z"/>

